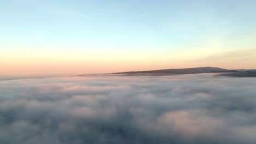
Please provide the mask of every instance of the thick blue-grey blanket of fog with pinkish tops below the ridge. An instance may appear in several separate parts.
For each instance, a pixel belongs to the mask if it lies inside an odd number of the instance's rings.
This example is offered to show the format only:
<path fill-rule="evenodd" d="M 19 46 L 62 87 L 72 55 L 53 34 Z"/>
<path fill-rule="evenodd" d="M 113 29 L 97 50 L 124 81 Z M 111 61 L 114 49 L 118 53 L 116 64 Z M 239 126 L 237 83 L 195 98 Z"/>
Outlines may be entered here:
<path fill-rule="evenodd" d="M 0 143 L 256 143 L 256 78 L 0 81 Z"/>

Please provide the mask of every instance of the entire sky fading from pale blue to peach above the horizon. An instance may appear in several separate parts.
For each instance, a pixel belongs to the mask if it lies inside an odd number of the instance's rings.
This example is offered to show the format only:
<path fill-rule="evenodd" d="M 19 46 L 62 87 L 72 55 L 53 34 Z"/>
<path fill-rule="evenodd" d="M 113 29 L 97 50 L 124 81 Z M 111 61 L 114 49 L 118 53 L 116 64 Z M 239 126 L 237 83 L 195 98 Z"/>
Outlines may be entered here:
<path fill-rule="evenodd" d="M 0 76 L 256 69 L 256 1 L 0 0 Z"/>

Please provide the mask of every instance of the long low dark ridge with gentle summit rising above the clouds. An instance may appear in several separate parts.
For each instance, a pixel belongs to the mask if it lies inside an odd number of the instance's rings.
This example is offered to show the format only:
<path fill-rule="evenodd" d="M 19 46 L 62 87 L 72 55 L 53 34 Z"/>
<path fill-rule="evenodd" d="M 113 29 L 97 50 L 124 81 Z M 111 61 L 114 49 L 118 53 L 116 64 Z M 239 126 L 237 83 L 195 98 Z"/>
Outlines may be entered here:
<path fill-rule="evenodd" d="M 236 73 L 236 70 L 229 70 L 216 67 L 198 67 L 198 68 L 184 68 L 184 69 L 160 69 L 160 70 L 146 70 L 146 71 L 126 71 L 120 73 L 109 74 L 123 74 L 123 75 L 181 75 L 181 74 L 201 74 L 201 73 Z"/>

